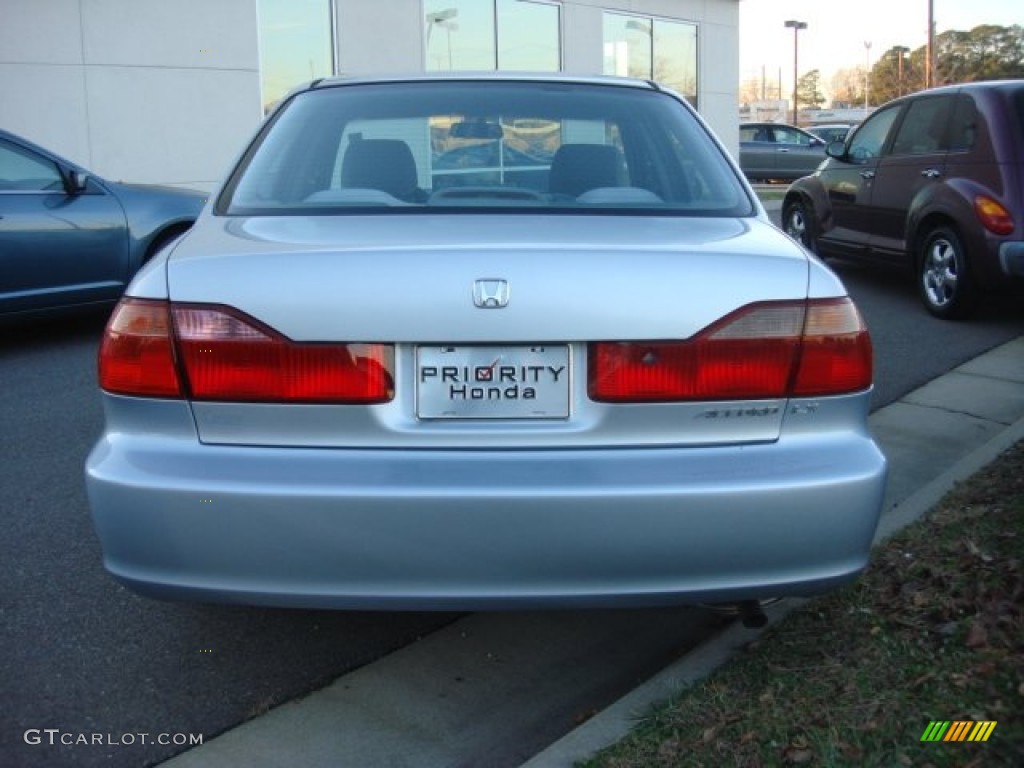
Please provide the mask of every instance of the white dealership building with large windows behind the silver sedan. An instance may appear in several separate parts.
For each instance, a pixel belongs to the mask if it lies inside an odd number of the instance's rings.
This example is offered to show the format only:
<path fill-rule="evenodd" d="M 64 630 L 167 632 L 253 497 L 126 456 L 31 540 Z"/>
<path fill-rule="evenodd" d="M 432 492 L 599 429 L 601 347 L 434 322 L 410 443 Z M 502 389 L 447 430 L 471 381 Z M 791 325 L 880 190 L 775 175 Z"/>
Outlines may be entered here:
<path fill-rule="evenodd" d="M 330 75 L 654 79 L 738 145 L 739 0 L 0 0 L 0 128 L 101 176 L 212 188 Z"/>

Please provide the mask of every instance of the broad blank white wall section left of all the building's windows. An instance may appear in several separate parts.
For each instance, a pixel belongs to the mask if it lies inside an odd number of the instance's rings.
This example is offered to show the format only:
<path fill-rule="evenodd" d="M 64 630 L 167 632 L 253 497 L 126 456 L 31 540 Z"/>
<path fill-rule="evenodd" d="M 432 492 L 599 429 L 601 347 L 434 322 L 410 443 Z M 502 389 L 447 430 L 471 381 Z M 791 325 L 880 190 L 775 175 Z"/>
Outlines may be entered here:
<path fill-rule="evenodd" d="M 211 188 L 262 117 L 257 0 L 0 0 L 0 126 L 101 176 Z"/>

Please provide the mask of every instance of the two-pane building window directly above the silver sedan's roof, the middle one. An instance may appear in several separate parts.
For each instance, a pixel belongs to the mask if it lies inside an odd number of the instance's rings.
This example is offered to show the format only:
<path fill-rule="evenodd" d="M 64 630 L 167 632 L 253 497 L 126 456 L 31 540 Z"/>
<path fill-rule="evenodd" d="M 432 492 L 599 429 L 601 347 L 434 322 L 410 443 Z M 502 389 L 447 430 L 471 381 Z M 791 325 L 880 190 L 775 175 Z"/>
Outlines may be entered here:
<path fill-rule="evenodd" d="M 427 0 L 426 69 L 561 69 L 559 6 L 536 0 Z"/>

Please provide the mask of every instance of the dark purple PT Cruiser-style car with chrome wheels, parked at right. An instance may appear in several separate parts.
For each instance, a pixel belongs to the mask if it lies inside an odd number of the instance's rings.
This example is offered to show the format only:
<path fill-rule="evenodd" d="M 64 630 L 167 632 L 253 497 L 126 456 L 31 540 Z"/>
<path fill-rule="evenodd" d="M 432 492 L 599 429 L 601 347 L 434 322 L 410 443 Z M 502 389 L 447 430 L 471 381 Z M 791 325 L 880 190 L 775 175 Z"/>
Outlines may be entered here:
<path fill-rule="evenodd" d="M 1024 286 L 1024 80 L 890 101 L 826 153 L 782 205 L 807 248 L 909 266 L 928 310 L 950 319 Z"/>

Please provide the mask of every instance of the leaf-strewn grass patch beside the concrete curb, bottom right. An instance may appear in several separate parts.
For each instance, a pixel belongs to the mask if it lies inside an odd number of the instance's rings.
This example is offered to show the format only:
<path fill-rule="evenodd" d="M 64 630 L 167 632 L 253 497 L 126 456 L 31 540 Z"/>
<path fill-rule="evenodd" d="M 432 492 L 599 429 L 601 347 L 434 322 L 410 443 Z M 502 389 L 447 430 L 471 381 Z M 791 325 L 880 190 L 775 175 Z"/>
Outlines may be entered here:
<path fill-rule="evenodd" d="M 1024 765 L 1024 442 L 588 768 Z M 929 721 L 997 721 L 922 742 Z"/>

